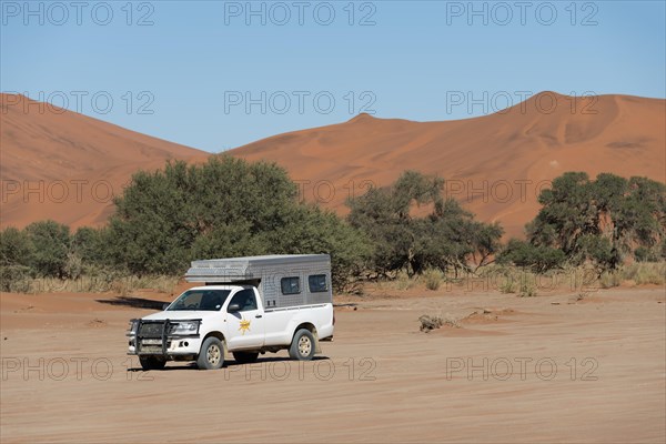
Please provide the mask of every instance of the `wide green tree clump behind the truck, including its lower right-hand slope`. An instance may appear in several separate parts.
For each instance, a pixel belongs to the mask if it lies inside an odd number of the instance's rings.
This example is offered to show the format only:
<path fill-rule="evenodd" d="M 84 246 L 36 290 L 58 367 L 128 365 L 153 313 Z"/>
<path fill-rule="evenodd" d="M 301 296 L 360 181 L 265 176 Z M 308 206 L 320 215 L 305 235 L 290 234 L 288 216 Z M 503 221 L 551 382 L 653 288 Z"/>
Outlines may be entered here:
<path fill-rule="evenodd" d="M 110 260 L 135 274 L 182 273 L 192 259 L 330 253 L 336 284 L 367 254 L 340 218 L 297 201 L 274 163 L 211 157 L 139 172 L 104 232 Z"/>

